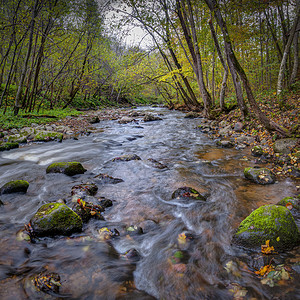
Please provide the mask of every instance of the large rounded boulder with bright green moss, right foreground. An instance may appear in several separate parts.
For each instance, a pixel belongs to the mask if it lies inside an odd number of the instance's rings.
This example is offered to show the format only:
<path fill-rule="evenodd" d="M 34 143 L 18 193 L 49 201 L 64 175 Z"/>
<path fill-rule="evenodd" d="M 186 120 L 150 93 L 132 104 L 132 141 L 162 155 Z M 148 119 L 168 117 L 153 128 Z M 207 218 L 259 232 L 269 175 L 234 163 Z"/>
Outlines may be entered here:
<path fill-rule="evenodd" d="M 300 233 L 291 212 L 283 206 L 265 205 L 241 222 L 233 237 L 239 246 L 256 249 L 270 241 L 275 251 L 300 244 Z"/>

